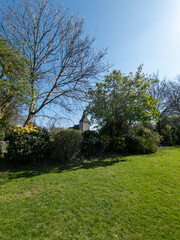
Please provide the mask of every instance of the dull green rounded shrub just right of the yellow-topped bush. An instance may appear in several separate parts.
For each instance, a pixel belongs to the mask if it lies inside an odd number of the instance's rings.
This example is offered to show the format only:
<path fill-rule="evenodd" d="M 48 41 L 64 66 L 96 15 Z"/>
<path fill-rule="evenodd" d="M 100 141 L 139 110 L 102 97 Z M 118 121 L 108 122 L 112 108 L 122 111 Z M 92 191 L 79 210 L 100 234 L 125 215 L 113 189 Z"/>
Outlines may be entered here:
<path fill-rule="evenodd" d="M 56 129 L 51 136 L 52 159 L 60 163 L 71 161 L 80 151 L 82 133 L 73 129 Z"/>

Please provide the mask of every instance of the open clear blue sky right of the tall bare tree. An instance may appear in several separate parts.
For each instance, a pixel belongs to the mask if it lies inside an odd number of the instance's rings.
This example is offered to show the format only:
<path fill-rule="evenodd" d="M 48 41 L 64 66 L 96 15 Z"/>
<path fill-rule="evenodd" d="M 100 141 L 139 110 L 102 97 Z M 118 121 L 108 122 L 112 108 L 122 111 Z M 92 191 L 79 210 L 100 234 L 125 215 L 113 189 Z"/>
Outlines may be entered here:
<path fill-rule="evenodd" d="M 57 2 L 60 2 L 57 0 Z M 180 74 L 180 0 L 64 0 L 85 17 L 95 47 L 108 47 L 107 60 L 123 73 L 159 71 L 162 79 Z"/>

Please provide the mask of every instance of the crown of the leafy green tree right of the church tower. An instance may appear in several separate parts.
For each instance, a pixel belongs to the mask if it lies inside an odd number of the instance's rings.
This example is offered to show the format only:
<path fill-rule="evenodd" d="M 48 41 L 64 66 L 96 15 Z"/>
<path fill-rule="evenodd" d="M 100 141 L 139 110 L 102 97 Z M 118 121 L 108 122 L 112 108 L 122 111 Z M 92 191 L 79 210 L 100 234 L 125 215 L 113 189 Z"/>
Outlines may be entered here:
<path fill-rule="evenodd" d="M 142 65 L 135 75 L 114 70 L 96 83 L 95 90 L 90 89 L 88 113 L 99 126 L 108 126 L 112 135 L 117 130 L 124 132 L 134 122 L 156 120 L 158 101 L 150 94 L 155 81 L 142 73 Z"/>

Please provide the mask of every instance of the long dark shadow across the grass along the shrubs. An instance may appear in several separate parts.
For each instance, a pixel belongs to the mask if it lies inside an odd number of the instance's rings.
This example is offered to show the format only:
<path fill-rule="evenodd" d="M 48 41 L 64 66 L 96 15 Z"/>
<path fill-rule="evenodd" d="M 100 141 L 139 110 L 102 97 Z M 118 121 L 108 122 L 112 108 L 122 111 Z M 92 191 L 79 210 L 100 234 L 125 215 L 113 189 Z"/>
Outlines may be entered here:
<path fill-rule="evenodd" d="M 67 164 L 67 165 L 54 165 L 51 167 L 26 167 L 26 168 L 19 168 L 19 169 L 7 169 L 1 168 L 0 169 L 0 179 L 6 178 L 6 180 L 13 180 L 17 178 L 30 178 L 46 173 L 62 173 L 68 171 L 76 171 L 79 169 L 91 169 L 91 168 L 98 168 L 98 167 L 108 167 L 112 166 L 119 162 L 126 162 L 127 159 L 124 157 L 111 157 L 111 158 L 98 158 L 98 159 L 91 159 L 85 160 L 79 163 Z M 4 173 L 3 173 L 4 172 Z M 5 182 L 4 182 L 5 183 Z M 2 183 L 0 183 L 2 184 Z"/>

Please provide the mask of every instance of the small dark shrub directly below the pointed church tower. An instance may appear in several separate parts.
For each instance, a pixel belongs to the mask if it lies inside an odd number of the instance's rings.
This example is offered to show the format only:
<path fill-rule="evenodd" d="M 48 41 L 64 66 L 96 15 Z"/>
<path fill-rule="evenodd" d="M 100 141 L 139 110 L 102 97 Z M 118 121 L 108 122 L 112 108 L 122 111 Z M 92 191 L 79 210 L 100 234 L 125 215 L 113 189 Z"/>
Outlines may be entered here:
<path fill-rule="evenodd" d="M 81 154 L 91 157 L 104 151 L 104 142 L 96 131 L 85 131 L 82 133 Z"/>

